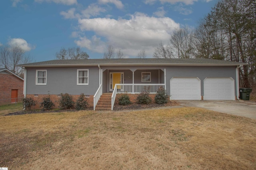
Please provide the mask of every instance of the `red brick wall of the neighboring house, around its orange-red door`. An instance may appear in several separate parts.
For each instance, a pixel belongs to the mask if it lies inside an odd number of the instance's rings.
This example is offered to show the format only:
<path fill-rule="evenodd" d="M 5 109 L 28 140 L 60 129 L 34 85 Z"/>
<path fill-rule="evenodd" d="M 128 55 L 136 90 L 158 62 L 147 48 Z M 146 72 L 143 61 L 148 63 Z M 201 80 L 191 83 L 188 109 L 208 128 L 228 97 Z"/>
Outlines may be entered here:
<path fill-rule="evenodd" d="M 0 105 L 11 103 L 12 90 L 18 90 L 18 102 L 23 96 L 23 80 L 10 74 L 0 73 Z"/>

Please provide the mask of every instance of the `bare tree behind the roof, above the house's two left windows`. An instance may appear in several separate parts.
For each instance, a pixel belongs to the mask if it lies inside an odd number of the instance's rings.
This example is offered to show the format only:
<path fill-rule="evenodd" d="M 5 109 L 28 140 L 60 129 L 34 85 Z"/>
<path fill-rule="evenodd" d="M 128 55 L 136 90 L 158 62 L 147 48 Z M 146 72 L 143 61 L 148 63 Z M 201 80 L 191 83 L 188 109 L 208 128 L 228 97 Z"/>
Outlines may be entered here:
<path fill-rule="evenodd" d="M 62 47 L 59 52 L 55 54 L 57 59 L 88 59 L 89 55 L 82 51 L 80 47 L 72 47 L 65 49 Z"/>

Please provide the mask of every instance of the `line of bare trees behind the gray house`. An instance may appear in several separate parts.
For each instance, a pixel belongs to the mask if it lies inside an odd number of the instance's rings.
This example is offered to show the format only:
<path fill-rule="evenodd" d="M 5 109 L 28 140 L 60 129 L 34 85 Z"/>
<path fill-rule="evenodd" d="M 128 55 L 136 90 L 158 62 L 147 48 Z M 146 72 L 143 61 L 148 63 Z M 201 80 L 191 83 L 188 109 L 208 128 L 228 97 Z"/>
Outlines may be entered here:
<path fill-rule="evenodd" d="M 80 47 L 61 48 L 56 59 L 88 59 L 89 55 Z M 112 45 L 102 58 L 124 58 L 122 49 Z M 138 58 L 146 58 L 142 49 Z M 219 0 L 210 13 L 198 21 L 191 30 L 183 27 L 174 30 L 168 44 L 162 42 L 155 48 L 154 58 L 210 58 L 248 63 L 240 69 L 240 85 L 251 87 L 256 79 L 256 1 Z M 0 66 L 22 74 L 16 67 L 31 61 L 20 47 L 0 47 Z"/>

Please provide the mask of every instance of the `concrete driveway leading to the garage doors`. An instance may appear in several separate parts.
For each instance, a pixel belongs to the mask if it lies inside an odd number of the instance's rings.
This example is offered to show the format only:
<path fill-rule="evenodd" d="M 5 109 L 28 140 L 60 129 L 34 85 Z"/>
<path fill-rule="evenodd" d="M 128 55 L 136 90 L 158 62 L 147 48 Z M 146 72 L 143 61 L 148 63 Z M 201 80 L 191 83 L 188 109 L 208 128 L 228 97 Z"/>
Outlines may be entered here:
<path fill-rule="evenodd" d="M 253 101 L 178 100 L 177 102 L 182 106 L 200 107 L 220 113 L 256 119 L 256 102 Z"/>

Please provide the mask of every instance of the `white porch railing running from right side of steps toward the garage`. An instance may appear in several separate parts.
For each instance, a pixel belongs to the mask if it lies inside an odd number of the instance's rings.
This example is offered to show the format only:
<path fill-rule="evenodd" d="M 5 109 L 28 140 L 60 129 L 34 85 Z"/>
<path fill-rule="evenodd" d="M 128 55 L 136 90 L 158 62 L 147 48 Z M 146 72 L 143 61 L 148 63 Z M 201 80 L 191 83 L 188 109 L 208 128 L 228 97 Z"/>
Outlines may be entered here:
<path fill-rule="evenodd" d="M 111 97 L 111 110 L 113 110 L 116 94 L 118 93 L 157 93 L 159 89 L 164 89 L 164 84 L 116 84 Z"/>

